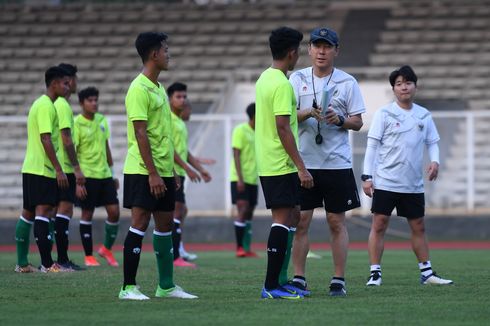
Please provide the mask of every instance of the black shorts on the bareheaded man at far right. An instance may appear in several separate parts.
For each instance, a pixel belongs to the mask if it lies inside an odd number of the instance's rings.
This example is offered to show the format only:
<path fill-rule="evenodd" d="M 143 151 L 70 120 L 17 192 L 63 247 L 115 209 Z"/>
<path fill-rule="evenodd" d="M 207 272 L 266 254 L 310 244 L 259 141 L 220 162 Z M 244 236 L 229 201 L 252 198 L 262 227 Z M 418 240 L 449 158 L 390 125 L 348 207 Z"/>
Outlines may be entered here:
<path fill-rule="evenodd" d="M 396 207 L 396 215 L 408 219 L 425 215 L 425 196 L 423 193 L 411 194 L 375 189 L 371 212 L 391 216 Z"/>

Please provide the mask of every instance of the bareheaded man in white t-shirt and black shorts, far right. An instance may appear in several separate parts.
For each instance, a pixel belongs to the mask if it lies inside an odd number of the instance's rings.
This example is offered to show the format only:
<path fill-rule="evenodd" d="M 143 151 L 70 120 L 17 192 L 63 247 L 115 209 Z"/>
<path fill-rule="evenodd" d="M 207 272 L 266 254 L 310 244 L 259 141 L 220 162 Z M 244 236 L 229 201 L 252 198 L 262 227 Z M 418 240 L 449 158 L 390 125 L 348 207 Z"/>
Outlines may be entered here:
<path fill-rule="evenodd" d="M 373 198 L 373 221 L 369 233 L 371 275 L 368 286 L 381 285 L 381 257 L 384 235 L 394 208 L 407 219 L 412 249 L 419 262 L 421 284 L 452 284 L 432 270 L 429 245 L 425 236 L 425 198 L 423 154 L 427 147 L 429 181 L 439 172 L 440 139 L 430 112 L 414 103 L 417 75 L 410 66 L 390 74 L 395 101 L 379 109 L 369 128 L 364 173 L 364 193 Z"/>

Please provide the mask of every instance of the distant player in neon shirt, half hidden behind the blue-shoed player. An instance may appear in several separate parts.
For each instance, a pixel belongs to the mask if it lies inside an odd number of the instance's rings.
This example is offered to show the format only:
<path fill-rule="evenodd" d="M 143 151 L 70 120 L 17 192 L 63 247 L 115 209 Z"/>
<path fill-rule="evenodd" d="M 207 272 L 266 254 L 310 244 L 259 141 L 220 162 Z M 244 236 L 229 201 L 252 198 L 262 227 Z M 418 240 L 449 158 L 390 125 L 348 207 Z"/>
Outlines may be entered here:
<path fill-rule="evenodd" d="M 233 129 L 230 164 L 231 200 L 237 207 L 235 237 L 237 257 L 257 257 L 251 250 L 252 218 L 257 205 L 257 163 L 255 162 L 255 103 L 247 106 L 248 122 Z"/>

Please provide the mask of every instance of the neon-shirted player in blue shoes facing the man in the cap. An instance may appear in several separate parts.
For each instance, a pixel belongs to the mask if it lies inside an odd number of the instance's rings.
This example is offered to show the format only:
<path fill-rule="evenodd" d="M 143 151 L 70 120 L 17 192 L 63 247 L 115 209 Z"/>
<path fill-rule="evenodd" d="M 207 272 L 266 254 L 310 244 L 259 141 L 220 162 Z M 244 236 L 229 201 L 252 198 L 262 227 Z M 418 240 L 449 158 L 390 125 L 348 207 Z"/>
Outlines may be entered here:
<path fill-rule="evenodd" d="M 289 27 L 273 30 L 269 37 L 272 66 L 262 72 L 255 85 L 257 172 L 273 222 L 267 240 L 267 273 L 261 294 L 267 299 L 303 298 L 279 284 L 282 266 L 287 268 L 288 264 L 290 227 L 299 220 L 298 183 L 305 188 L 313 186 L 313 178 L 297 148 L 296 100 L 286 77 L 298 61 L 302 39 L 301 32 Z"/>

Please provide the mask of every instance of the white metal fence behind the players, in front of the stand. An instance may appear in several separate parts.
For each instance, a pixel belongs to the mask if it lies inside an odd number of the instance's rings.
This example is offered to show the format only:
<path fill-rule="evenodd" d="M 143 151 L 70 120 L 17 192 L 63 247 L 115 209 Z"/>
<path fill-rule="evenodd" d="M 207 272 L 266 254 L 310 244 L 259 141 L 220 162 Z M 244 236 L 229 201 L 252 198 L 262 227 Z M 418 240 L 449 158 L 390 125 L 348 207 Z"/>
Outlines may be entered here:
<path fill-rule="evenodd" d="M 426 182 L 429 212 L 478 214 L 490 212 L 490 112 L 433 112 L 441 134 L 441 167 L 436 182 Z M 216 160 L 207 166 L 213 176 L 208 183 L 186 182 L 190 215 L 230 216 L 232 204 L 228 179 L 232 159 L 233 127 L 245 121 L 244 114 L 195 114 L 187 123 L 190 150 L 195 156 Z M 22 184 L 20 169 L 26 146 L 25 116 L 0 116 L 0 211 L 20 211 Z M 108 116 L 115 171 L 122 177 L 126 155 L 126 117 Z M 357 177 L 362 173 L 367 130 L 351 133 L 353 167 Z M 370 202 L 362 194 L 362 208 L 369 212 Z M 259 191 L 258 213 L 268 214 Z M 122 195 L 122 193 L 120 194 Z"/>

